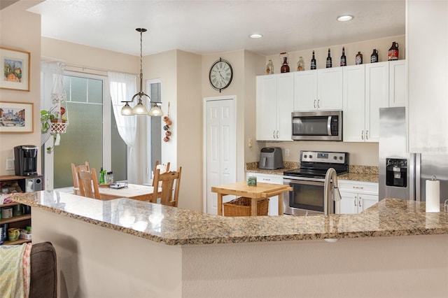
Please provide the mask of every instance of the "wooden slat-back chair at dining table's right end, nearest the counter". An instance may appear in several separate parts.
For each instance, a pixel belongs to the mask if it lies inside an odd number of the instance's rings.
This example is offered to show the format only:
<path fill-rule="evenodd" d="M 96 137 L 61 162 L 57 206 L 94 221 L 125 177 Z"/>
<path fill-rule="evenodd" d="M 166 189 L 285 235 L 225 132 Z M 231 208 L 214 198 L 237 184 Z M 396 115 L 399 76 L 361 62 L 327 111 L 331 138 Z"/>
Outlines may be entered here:
<path fill-rule="evenodd" d="M 160 196 L 160 204 L 177 207 L 177 203 L 179 201 L 179 187 L 181 185 L 181 172 L 182 166 L 179 166 L 179 171 L 168 171 L 165 173 L 160 173 L 160 169 L 155 170 L 155 185 L 158 185 L 159 182 L 162 183 L 162 196 Z M 154 187 L 153 203 L 157 203 L 157 193 L 158 187 Z"/>

